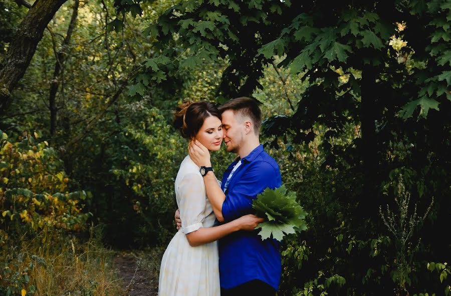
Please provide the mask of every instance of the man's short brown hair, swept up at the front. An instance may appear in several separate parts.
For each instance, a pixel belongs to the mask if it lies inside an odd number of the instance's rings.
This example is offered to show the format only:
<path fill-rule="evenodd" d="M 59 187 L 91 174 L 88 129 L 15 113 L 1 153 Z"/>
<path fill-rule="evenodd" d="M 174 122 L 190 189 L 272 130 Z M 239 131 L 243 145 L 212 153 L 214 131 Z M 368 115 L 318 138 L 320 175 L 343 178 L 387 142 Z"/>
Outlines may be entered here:
<path fill-rule="evenodd" d="M 254 124 L 254 133 L 260 134 L 260 126 L 262 125 L 262 111 L 259 107 L 259 101 L 253 98 L 240 97 L 225 102 L 217 109 L 222 113 L 227 110 L 233 110 L 235 115 L 249 117 Z"/>

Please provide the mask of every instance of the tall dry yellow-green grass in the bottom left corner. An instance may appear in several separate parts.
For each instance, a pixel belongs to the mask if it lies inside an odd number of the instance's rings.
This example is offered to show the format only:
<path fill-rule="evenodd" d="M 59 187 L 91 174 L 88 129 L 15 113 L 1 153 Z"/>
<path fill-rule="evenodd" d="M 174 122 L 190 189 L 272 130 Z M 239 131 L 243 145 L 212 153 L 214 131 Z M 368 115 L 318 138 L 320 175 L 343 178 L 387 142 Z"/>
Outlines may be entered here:
<path fill-rule="evenodd" d="M 0 262 L 6 263 L 0 286 L 11 295 L 124 295 L 113 252 L 101 244 L 98 230 L 91 226 L 85 239 L 46 230 L 29 241 L 24 235 L 16 245 L 7 238 L 0 251 Z"/>

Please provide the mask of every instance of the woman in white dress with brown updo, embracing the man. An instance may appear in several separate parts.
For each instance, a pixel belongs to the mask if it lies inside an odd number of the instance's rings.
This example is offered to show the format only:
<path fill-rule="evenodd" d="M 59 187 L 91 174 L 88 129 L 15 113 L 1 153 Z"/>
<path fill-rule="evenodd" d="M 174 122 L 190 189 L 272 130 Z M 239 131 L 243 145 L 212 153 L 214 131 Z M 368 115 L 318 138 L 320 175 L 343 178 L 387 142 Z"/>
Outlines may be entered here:
<path fill-rule="evenodd" d="M 174 125 L 186 139 L 197 139 L 210 151 L 222 143 L 221 116 L 207 101 L 177 107 Z M 254 215 L 212 227 L 216 217 L 205 193 L 199 167 L 186 156 L 175 179 L 182 226 L 161 260 L 159 296 L 220 295 L 216 240 L 239 230 L 252 231 L 264 219 Z M 237 250 L 239 251 L 239 250 Z"/>

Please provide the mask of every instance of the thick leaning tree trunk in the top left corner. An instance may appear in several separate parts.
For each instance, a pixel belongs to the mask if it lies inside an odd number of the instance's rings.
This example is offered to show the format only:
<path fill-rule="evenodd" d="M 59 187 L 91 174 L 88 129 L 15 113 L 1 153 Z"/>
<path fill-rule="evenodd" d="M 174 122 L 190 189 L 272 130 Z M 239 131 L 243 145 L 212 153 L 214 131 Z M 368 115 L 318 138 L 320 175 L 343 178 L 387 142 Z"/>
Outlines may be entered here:
<path fill-rule="evenodd" d="M 37 0 L 25 16 L 0 64 L 0 113 L 5 111 L 11 92 L 24 76 L 44 29 L 67 0 Z"/>

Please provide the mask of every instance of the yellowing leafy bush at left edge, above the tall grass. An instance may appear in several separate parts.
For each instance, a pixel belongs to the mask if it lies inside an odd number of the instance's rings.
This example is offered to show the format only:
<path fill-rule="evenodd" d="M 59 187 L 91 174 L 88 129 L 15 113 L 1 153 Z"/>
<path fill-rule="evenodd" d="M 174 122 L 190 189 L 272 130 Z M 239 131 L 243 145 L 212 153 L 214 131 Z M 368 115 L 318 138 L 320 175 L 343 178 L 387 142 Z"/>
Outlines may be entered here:
<path fill-rule="evenodd" d="M 84 191 L 68 192 L 69 178 L 47 141 L 35 137 L 0 140 L 1 224 L 9 236 L 33 235 L 41 229 L 82 230 L 89 213 L 83 213 Z"/>

